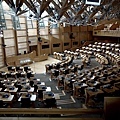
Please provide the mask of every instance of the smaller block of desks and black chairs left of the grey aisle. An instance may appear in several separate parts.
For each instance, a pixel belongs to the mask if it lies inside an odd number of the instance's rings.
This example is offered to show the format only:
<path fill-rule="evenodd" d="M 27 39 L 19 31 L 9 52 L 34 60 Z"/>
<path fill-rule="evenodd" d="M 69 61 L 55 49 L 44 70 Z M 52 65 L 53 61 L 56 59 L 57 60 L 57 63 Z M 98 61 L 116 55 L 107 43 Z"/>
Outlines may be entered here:
<path fill-rule="evenodd" d="M 45 107 L 56 107 L 56 95 L 51 87 L 36 79 L 34 74 L 29 66 L 8 66 L 7 72 L 1 71 L 0 100 L 9 107 L 13 107 L 13 102 L 19 102 L 21 107 L 30 108 L 35 107 L 34 102 L 40 99 Z M 51 100 L 52 104 L 49 104 Z"/>

